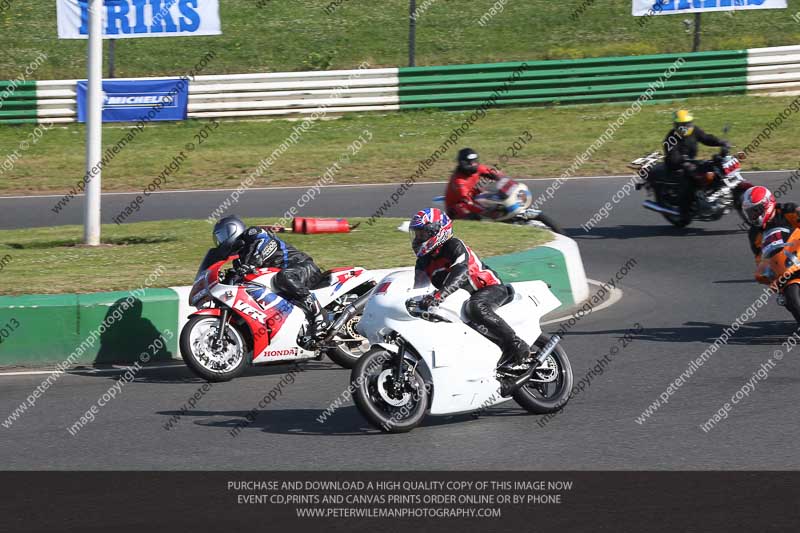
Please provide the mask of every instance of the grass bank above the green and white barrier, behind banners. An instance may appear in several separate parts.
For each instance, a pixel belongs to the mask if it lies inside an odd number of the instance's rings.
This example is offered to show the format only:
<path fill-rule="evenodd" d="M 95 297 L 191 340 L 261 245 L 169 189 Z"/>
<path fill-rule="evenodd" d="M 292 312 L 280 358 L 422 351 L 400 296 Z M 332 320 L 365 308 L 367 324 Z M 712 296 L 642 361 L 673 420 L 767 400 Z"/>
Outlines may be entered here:
<path fill-rule="evenodd" d="M 206 73 L 243 73 L 407 64 L 408 0 L 221 0 L 223 35 L 117 41 L 118 76 L 179 75 L 208 50 L 218 58 Z M 585 2 L 511 0 L 485 26 L 478 21 L 495 0 L 432 0 L 418 17 L 417 63 L 482 63 L 552 58 L 685 52 L 688 16 L 652 17 L 644 27 L 631 17 L 630 0 Z M 0 79 L 16 77 L 39 52 L 48 61 L 38 79 L 86 75 L 86 43 L 58 40 L 55 3 L 11 2 L 0 13 Z M 424 2 L 419 0 L 418 6 Z M 704 50 L 780 46 L 800 42 L 789 9 L 703 15 Z"/>

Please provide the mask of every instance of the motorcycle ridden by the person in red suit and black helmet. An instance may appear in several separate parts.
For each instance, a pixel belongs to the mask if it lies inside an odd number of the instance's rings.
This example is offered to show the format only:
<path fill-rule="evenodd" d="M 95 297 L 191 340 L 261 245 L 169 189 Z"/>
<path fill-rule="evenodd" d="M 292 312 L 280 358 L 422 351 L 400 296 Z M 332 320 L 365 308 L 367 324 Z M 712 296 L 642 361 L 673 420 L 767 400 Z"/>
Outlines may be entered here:
<path fill-rule="evenodd" d="M 492 180 L 480 187 L 481 193 L 474 201 L 483 208 L 482 216 L 497 222 L 549 229 L 561 235 L 564 230 L 545 215 L 541 209 L 531 207 L 533 196 L 524 183 L 505 177 Z M 435 204 L 444 205 L 444 196 L 435 196 Z"/>

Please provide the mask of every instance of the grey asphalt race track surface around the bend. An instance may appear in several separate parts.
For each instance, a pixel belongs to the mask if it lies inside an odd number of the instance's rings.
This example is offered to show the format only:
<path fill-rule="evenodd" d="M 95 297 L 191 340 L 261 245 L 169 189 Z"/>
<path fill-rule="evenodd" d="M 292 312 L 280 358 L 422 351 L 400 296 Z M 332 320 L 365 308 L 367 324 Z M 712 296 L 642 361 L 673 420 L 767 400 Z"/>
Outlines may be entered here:
<path fill-rule="evenodd" d="M 749 175 L 777 188 L 788 173 Z M 796 469 L 800 464 L 800 347 L 782 341 L 794 330 L 774 300 L 716 351 L 648 420 L 636 418 L 689 361 L 730 326 L 756 298 L 753 261 L 735 214 L 717 222 L 674 230 L 639 205 L 633 192 L 614 204 L 590 232 L 584 224 L 628 178 L 576 179 L 563 185 L 545 210 L 581 248 L 587 274 L 608 280 L 633 258 L 618 282 L 616 305 L 578 321 L 563 346 L 576 382 L 612 348 L 619 351 L 588 387 L 542 427 L 540 416 L 513 402 L 471 416 L 429 417 L 408 434 L 370 429 L 351 402 L 320 423 L 317 417 L 348 384 L 349 371 L 329 362 L 305 365 L 280 397 L 259 411 L 237 437 L 230 430 L 274 389 L 287 367 L 251 370 L 216 384 L 171 430 L 164 425 L 202 385 L 186 369 L 140 372 L 122 387 L 96 420 L 71 436 L 72 425 L 115 383 L 121 372 L 62 376 L 10 428 L 0 427 L 5 469 Z M 533 192 L 550 181 L 529 182 Z M 419 184 L 390 212 L 406 216 L 427 205 L 441 185 Z M 325 190 L 303 214 L 369 215 L 392 186 Z M 248 192 L 236 208 L 245 216 L 280 216 L 303 189 Z M 136 220 L 204 218 L 229 192 L 155 195 Z M 800 198 L 791 192 L 786 198 Z M 53 198 L 0 200 L 2 226 L 51 225 L 80 220 L 80 201 L 57 219 L 46 214 Z M 129 201 L 129 200 L 128 200 Z M 105 213 L 126 203 L 104 198 Z M 55 266 L 54 266 L 55 268 Z M 640 326 L 637 327 L 636 324 Z M 555 331 L 557 325 L 545 328 Z M 631 329 L 627 346 L 623 335 Z M 785 356 L 775 360 L 775 350 Z M 766 379 L 726 413 L 708 421 L 762 364 Z M 0 420 L 24 401 L 46 375 L 0 377 Z"/>

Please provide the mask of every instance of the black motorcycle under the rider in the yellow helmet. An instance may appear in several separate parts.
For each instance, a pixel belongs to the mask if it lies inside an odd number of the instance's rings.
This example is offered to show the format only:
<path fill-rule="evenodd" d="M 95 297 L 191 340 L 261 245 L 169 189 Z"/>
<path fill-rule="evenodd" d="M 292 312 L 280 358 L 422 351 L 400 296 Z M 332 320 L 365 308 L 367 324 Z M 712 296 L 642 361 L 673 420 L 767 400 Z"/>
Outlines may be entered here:
<path fill-rule="evenodd" d="M 680 206 L 686 184 L 681 177 L 667 170 L 663 163 L 663 154 L 653 152 L 631 161 L 629 166 L 642 179 L 636 185 L 637 190 L 644 188 L 655 198 L 655 201 L 645 200 L 643 207 L 661 213 L 672 225 L 682 228 L 688 226 L 692 220 L 719 220 L 732 207 L 741 216 L 742 195 L 752 187 L 741 173 L 739 160 L 744 157 L 743 152 L 736 156 L 730 155 L 723 147 L 710 161 L 691 160 L 698 169 L 713 170 L 692 177 L 701 182 L 701 186 L 691 199 L 688 212 L 681 212 Z"/>

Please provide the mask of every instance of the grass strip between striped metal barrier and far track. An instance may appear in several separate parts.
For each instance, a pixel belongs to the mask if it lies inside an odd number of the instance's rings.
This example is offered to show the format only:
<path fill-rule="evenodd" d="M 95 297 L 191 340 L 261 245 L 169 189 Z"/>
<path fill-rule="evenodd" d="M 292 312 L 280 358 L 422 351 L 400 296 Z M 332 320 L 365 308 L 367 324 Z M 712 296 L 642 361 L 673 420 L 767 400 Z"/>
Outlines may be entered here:
<path fill-rule="evenodd" d="M 688 106 L 697 122 L 721 134 L 730 124 L 730 141 L 743 148 L 783 110 L 793 97 L 728 96 L 691 98 L 686 101 L 644 106 L 628 120 L 614 138 L 579 170 L 578 175 L 627 173 L 626 164 L 644 153 L 660 149 L 678 105 Z M 532 142 L 511 158 L 503 170 L 521 177 L 558 176 L 583 153 L 627 109 L 627 104 L 574 107 L 494 109 L 477 121 L 459 140 L 461 146 L 477 149 L 487 163 L 499 161 L 523 132 Z M 281 155 L 253 186 L 304 185 L 319 176 L 364 130 L 372 140 L 342 166 L 335 183 L 400 182 L 414 173 L 419 161 L 431 153 L 460 126 L 468 113 L 415 111 L 389 115 L 345 115 L 337 120 L 314 123 L 294 146 Z M 189 121 L 147 126 L 132 146 L 123 149 L 103 170 L 104 191 L 142 190 L 175 157 L 184 144 L 194 142 L 194 133 L 205 123 Z M 221 122 L 209 140 L 194 152 L 180 171 L 168 178 L 166 189 L 235 188 L 291 133 L 296 122 Z M 0 154 L 11 153 L 27 137 L 31 126 L 0 126 Z M 126 128 L 104 127 L 104 141 L 111 146 Z M 0 194 L 66 193 L 84 172 L 83 125 L 57 126 L 21 153 L 10 171 L 0 177 Z M 744 163 L 745 170 L 796 168 L 800 114 L 783 122 L 772 137 Z M 429 169 L 422 181 L 444 180 L 453 167 L 455 149 Z M 703 148 L 701 155 L 712 149 Z"/>

